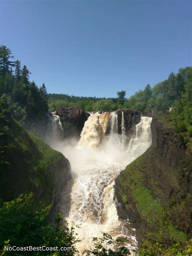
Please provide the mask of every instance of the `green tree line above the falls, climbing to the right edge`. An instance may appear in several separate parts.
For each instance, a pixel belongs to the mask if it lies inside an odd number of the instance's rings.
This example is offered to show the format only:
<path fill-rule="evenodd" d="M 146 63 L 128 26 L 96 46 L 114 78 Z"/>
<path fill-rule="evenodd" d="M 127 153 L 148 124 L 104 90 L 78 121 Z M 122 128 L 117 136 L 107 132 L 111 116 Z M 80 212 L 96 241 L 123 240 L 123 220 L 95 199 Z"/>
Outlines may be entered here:
<path fill-rule="evenodd" d="M 48 94 L 50 111 L 59 106 L 80 107 L 85 111 L 115 111 L 117 109 L 137 109 L 145 115 L 151 108 L 159 114 L 167 114 L 173 107 L 170 120 L 177 132 L 192 134 L 192 67 L 180 68 L 175 75 L 154 87 L 147 84 L 144 90 L 126 98 L 126 91 L 117 92 L 116 98 L 77 97 L 67 94 Z"/>

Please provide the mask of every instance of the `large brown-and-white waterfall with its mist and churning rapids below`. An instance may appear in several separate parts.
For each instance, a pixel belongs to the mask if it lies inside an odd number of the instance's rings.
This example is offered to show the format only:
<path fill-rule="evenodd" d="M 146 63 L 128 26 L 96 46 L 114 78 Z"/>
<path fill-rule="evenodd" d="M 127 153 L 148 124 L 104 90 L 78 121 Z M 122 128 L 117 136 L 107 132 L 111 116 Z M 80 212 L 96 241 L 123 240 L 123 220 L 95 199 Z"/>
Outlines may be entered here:
<path fill-rule="evenodd" d="M 115 112 L 91 114 L 79 142 L 64 141 L 55 149 L 66 156 L 73 179 L 62 195 L 61 211 L 66 220 L 81 224 L 77 249 L 92 246 L 93 237 L 110 233 L 126 236 L 137 246 L 135 230 L 128 220 L 120 220 L 114 197 L 114 180 L 120 171 L 151 145 L 151 117 L 141 117 L 130 138 L 126 138 L 122 113 L 122 134 L 117 133 Z M 126 144 L 127 143 L 127 144 Z"/>

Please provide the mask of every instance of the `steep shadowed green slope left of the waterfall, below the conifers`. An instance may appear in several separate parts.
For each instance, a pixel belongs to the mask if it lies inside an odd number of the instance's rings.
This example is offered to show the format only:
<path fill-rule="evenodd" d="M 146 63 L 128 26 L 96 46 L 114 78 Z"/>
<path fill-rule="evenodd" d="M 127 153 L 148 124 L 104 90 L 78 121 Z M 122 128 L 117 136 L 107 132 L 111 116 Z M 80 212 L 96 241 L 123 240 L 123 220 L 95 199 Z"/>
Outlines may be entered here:
<path fill-rule="evenodd" d="M 9 201 L 21 193 L 34 192 L 42 206 L 47 205 L 58 186 L 56 178 L 62 174 L 66 175 L 63 179 L 68 178 L 68 160 L 26 132 L 11 116 L 0 121 L 0 198 Z"/>

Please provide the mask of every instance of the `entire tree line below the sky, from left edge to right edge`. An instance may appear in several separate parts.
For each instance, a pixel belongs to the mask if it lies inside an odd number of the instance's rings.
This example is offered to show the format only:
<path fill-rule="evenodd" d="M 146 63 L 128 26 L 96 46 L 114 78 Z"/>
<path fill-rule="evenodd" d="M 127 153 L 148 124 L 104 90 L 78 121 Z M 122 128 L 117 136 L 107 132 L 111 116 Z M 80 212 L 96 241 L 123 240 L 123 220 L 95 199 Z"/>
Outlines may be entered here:
<path fill-rule="evenodd" d="M 11 50 L 0 47 L 0 97 L 7 97 L 12 106 L 12 116 L 23 124 L 55 111 L 59 106 L 80 107 L 85 111 L 115 111 L 128 108 L 146 113 L 156 108 L 159 113 L 171 113 L 177 132 L 192 133 L 192 67 L 180 68 L 175 75 L 154 85 L 147 84 L 144 90 L 126 98 L 126 91 L 117 92 L 116 98 L 69 96 L 68 94 L 47 94 L 45 84 L 38 88 L 29 80 L 31 74 L 26 65 L 21 68 L 19 60 L 13 61 Z M 13 68 L 15 68 L 13 72 Z"/>

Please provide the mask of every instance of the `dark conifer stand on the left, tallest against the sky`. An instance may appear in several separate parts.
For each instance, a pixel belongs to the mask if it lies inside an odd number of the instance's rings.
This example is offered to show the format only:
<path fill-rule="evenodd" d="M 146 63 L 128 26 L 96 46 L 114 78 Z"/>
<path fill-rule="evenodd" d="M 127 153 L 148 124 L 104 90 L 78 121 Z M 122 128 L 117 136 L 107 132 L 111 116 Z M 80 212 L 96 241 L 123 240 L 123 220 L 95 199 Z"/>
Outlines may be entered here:
<path fill-rule="evenodd" d="M 48 97 L 45 84 L 38 88 L 26 65 L 21 68 L 19 60 L 13 61 L 11 50 L 0 46 L 0 97 L 11 107 L 12 116 L 25 124 L 44 116 L 48 111 Z M 13 68 L 15 71 L 13 72 Z"/>

